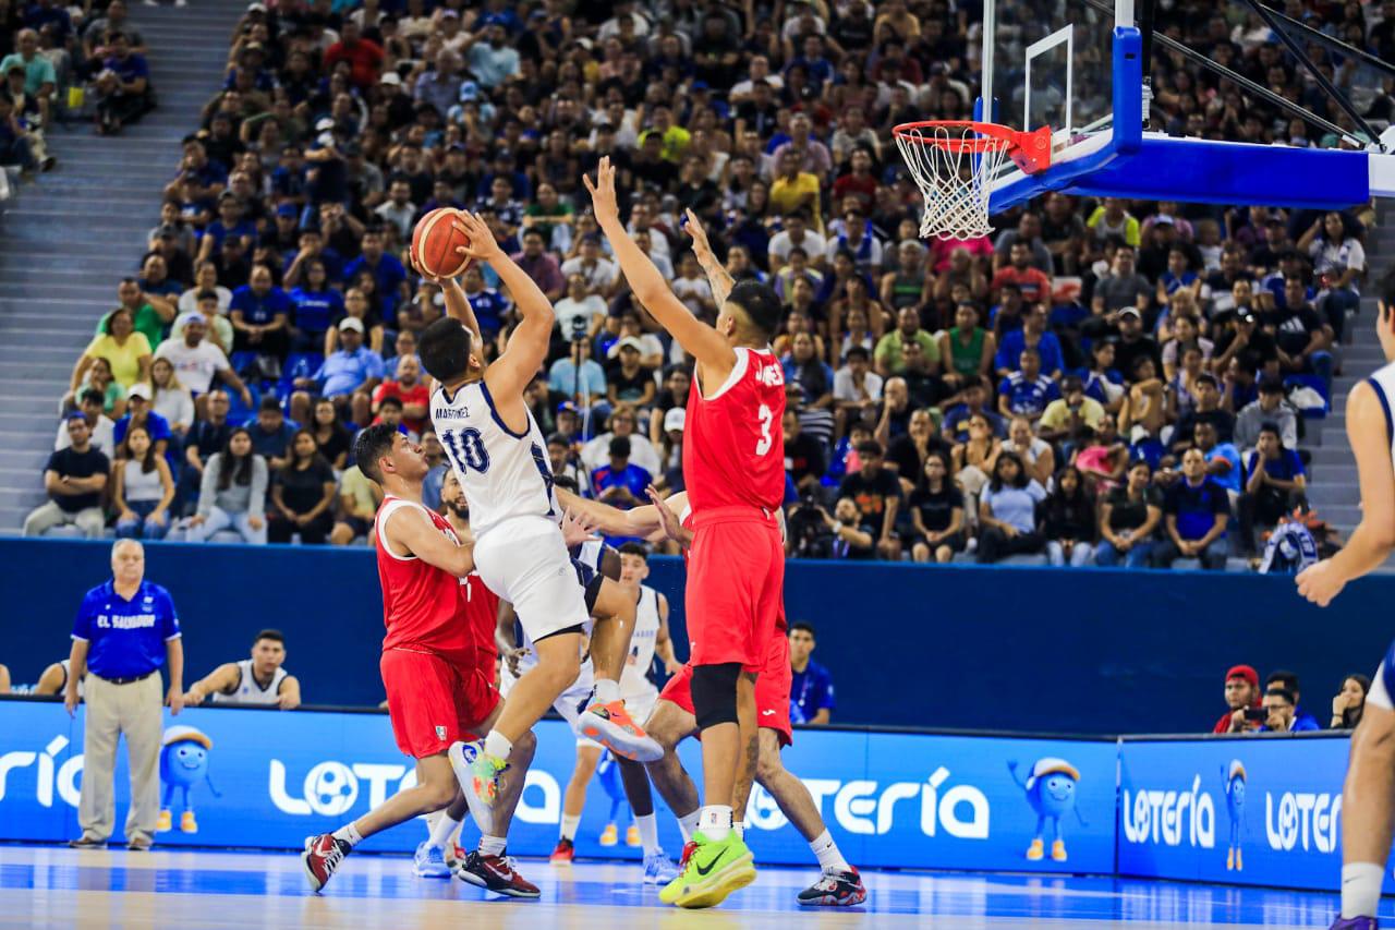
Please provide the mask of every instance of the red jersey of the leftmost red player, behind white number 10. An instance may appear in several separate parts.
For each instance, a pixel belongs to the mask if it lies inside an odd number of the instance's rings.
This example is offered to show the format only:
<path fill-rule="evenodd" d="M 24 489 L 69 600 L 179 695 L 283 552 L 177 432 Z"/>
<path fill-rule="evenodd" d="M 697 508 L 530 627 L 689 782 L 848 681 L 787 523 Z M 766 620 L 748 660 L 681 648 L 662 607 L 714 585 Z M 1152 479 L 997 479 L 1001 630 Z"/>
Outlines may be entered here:
<path fill-rule="evenodd" d="M 452 662 L 472 665 L 484 648 L 484 614 L 488 613 L 490 648 L 494 642 L 495 598 L 477 577 L 456 578 L 416 556 L 395 556 L 384 542 L 388 518 L 399 508 L 417 508 L 452 542 L 459 536 L 445 517 L 400 497 L 388 496 L 378 508 L 374 549 L 378 553 L 378 581 L 382 585 L 382 623 L 388 635 L 384 649 L 431 652 Z"/>

